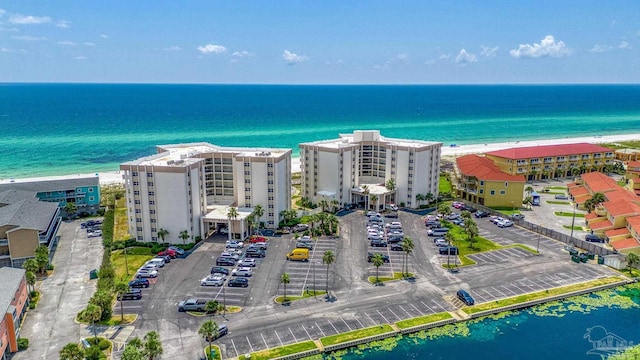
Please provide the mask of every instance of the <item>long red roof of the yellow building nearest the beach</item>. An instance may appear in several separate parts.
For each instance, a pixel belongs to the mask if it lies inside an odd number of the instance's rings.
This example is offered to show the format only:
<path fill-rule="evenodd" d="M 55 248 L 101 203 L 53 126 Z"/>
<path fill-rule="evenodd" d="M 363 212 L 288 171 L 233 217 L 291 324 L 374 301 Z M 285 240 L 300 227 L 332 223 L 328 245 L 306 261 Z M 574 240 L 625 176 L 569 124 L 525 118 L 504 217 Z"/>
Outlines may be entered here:
<path fill-rule="evenodd" d="M 560 144 L 518 147 L 497 151 L 490 151 L 487 155 L 499 156 L 507 159 L 530 159 L 550 156 L 568 156 L 591 153 L 606 153 L 613 150 L 589 143 Z"/>

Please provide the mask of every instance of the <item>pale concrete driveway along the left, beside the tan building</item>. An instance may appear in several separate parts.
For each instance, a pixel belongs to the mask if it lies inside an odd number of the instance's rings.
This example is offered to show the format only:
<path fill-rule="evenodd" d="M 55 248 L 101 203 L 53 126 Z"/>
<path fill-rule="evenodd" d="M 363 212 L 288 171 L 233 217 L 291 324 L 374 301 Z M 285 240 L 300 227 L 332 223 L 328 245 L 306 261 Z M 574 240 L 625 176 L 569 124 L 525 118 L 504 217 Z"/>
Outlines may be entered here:
<path fill-rule="evenodd" d="M 75 323 L 74 318 L 95 293 L 97 280 L 89 280 L 89 271 L 100 266 L 102 238 L 87 238 L 81 222 L 60 225 L 55 271 L 36 285 L 40 302 L 28 312 L 20 334 L 29 339 L 29 348 L 17 353 L 15 360 L 57 359 L 64 345 L 89 334 L 88 327 Z"/>

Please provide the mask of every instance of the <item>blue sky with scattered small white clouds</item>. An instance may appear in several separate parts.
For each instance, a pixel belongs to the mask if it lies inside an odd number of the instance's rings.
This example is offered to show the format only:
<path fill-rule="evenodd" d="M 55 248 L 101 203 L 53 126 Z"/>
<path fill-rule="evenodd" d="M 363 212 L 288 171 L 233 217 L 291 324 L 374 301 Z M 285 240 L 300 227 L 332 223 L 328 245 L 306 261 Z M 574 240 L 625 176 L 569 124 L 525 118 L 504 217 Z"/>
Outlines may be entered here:
<path fill-rule="evenodd" d="M 0 82 L 640 83 L 634 1 L 0 2 Z"/>

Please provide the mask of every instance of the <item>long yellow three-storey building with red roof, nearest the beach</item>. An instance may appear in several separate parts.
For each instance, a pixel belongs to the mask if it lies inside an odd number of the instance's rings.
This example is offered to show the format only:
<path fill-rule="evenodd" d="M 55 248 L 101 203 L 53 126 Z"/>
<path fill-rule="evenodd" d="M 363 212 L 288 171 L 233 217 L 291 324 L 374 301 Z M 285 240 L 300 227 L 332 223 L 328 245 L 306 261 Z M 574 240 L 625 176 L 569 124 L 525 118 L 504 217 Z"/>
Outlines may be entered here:
<path fill-rule="evenodd" d="M 589 143 L 516 147 L 485 155 L 502 171 L 529 181 L 602 171 L 615 156 L 613 150 Z"/>

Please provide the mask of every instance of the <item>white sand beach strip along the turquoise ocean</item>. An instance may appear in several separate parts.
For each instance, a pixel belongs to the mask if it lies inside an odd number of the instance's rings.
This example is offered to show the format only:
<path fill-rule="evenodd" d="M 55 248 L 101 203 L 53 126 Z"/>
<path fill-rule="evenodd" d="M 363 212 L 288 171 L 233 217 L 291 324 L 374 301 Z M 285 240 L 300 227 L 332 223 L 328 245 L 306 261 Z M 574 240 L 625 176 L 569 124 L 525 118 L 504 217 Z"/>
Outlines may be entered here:
<path fill-rule="evenodd" d="M 539 140 L 525 140 L 525 141 L 509 141 L 499 143 L 485 143 L 485 144 L 467 144 L 457 146 L 442 146 L 441 156 L 442 158 L 454 158 L 457 156 L 467 154 L 481 154 L 489 151 L 496 151 L 508 148 L 527 147 L 527 146 L 545 146 L 545 145 L 559 145 L 559 144 L 575 144 L 575 143 L 591 143 L 591 144 L 608 144 L 615 142 L 624 142 L 639 140 L 640 134 L 619 134 L 619 135 L 594 135 L 583 137 L 566 137 L 555 139 L 539 139 Z M 291 158 L 291 173 L 300 172 L 300 158 Z M 90 174 L 77 174 L 77 177 L 91 177 L 99 176 L 100 185 L 121 184 L 123 182 L 122 175 L 119 170 L 114 171 L 98 171 Z M 25 182 L 35 180 L 59 180 L 73 178 L 74 175 L 55 175 L 44 177 L 28 177 L 28 178 L 8 178 L 0 180 L 0 184 L 7 184 L 11 182 Z M 12 181 L 13 180 L 13 181 Z"/>

